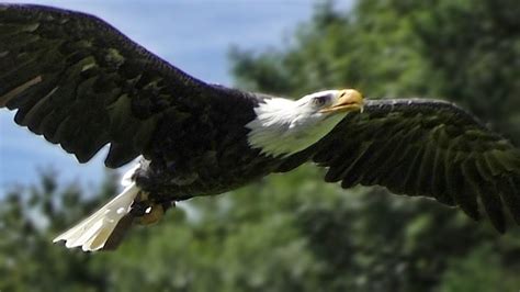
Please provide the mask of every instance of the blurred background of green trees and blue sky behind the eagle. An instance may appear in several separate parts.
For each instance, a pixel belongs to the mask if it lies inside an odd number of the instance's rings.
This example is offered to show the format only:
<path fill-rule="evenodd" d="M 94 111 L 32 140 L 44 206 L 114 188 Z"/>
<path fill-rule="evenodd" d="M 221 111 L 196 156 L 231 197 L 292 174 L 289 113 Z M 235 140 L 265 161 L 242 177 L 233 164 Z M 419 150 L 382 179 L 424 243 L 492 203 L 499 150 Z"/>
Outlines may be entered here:
<path fill-rule="evenodd" d="M 25 1 L 20 1 L 25 2 Z M 520 142 L 518 0 L 33 1 L 90 12 L 195 77 L 298 98 L 454 101 Z M 0 291 L 518 291 L 520 227 L 303 166 L 190 200 L 115 252 L 52 238 L 117 192 L 0 115 Z"/>

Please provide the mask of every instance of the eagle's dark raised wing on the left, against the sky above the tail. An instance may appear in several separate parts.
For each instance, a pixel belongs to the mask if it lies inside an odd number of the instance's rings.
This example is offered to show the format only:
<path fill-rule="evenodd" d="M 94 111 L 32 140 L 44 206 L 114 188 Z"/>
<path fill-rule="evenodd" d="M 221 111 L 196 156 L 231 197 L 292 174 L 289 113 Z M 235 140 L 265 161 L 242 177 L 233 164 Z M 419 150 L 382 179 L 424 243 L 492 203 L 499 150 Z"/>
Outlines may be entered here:
<path fill-rule="evenodd" d="M 92 15 L 0 4 L 0 108 L 80 162 L 110 143 L 106 166 L 124 165 L 165 115 L 176 123 L 222 92 Z"/>

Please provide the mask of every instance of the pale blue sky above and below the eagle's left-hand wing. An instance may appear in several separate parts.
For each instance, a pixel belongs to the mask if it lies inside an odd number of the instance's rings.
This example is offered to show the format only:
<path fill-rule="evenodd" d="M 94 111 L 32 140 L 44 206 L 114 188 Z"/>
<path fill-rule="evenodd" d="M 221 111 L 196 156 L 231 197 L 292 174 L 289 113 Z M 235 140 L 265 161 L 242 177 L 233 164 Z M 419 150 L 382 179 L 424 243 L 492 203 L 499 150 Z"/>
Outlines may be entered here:
<path fill-rule="evenodd" d="M 67 8 L 98 15 L 135 42 L 202 80 L 233 86 L 230 45 L 263 49 L 286 44 L 296 25 L 308 20 L 315 0 L 69 0 L 9 1 Z M 351 0 L 338 0 L 348 9 Z M 0 110 L 0 194 L 16 183 L 37 181 L 52 168 L 61 181 L 98 183 L 103 177 L 100 153 L 87 165 L 58 146 L 16 126 Z"/>

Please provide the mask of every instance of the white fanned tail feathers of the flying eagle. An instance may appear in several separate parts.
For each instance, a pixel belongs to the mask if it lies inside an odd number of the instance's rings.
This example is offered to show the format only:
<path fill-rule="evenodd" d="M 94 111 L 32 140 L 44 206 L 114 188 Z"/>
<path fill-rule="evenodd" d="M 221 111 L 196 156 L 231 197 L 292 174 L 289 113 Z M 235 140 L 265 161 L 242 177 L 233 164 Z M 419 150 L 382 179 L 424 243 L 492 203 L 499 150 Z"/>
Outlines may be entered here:
<path fill-rule="evenodd" d="M 133 172 L 135 169 L 132 169 Z M 129 172 L 129 171 L 128 171 Z M 126 178 L 127 176 L 125 176 Z M 124 181 L 125 182 L 125 181 Z M 131 182 L 117 196 L 81 221 L 72 228 L 56 237 L 53 242 L 65 240 L 67 248 L 81 246 L 83 251 L 94 251 L 102 249 L 117 223 L 128 214 L 132 203 L 140 189 Z"/>

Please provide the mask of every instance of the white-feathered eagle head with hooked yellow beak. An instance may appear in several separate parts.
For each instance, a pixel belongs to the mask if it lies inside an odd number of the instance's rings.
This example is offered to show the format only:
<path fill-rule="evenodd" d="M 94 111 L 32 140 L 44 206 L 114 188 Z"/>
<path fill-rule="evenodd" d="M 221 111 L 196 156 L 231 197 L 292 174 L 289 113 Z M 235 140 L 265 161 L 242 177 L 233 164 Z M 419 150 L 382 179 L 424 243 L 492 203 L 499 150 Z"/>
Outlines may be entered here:
<path fill-rule="evenodd" d="M 363 96 L 354 89 L 325 90 L 298 100 L 265 99 L 246 126 L 248 143 L 273 157 L 301 151 L 327 135 L 349 112 L 363 110 Z"/>

